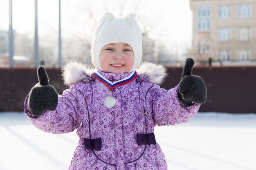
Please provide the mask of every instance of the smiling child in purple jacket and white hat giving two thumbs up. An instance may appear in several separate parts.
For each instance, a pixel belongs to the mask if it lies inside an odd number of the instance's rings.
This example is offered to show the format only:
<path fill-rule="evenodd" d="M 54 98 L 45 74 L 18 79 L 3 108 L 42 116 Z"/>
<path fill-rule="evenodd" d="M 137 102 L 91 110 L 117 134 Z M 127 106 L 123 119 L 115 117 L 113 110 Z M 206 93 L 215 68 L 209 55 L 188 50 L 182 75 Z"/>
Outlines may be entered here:
<path fill-rule="evenodd" d="M 64 67 L 65 83 L 71 86 L 63 95 L 38 67 L 39 83 L 25 99 L 25 114 L 45 132 L 77 129 L 79 146 L 70 170 L 167 170 L 153 131 L 156 125 L 188 121 L 206 101 L 203 80 L 191 75 L 193 60 L 186 60 L 178 86 L 160 88 L 166 75 L 162 66 L 137 69 L 142 44 L 134 14 L 115 18 L 105 13 L 91 51 L 95 69 L 76 62 Z"/>

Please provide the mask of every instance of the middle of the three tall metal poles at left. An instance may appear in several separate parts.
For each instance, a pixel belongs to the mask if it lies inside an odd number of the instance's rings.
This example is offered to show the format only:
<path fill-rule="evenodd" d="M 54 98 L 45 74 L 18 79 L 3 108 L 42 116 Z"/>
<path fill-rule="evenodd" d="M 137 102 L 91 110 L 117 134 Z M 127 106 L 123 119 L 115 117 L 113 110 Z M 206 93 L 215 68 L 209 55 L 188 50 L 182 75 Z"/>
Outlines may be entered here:
<path fill-rule="evenodd" d="M 35 0 L 34 66 L 38 67 L 37 0 Z"/>

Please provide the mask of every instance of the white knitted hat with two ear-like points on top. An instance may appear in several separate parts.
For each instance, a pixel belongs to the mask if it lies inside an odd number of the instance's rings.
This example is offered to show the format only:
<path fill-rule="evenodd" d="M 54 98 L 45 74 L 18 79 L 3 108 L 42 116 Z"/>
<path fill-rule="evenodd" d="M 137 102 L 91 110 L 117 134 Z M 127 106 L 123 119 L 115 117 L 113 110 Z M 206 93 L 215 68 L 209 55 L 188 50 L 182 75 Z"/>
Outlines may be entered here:
<path fill-rule="evenodd" d="M 92 38 L 92 64 L 102 71 L 99 57 L 104 46 L 111 43 L 123 42 L 132 47 L 134 63 L 130 72 L 135 70 L 142 56 L 142 35 L 135 20 L 136 15 L 130 13 L 126 18 L 115 18 L 106 12 L 97 24 Z"/>

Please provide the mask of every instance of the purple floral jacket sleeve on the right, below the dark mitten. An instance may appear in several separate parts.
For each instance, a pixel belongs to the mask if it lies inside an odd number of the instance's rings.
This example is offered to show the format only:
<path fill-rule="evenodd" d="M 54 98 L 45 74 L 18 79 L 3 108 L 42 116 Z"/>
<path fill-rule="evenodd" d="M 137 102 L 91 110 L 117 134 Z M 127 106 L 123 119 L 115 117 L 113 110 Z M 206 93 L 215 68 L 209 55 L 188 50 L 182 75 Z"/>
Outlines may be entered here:
<path fill-rule="evenodd" d="M 178 99 L 179 85 L 170 90 L 153 86 L 152 116 L 158 126 L 182 124 L 198 112 L 200 104 L 184 107 Z"/>

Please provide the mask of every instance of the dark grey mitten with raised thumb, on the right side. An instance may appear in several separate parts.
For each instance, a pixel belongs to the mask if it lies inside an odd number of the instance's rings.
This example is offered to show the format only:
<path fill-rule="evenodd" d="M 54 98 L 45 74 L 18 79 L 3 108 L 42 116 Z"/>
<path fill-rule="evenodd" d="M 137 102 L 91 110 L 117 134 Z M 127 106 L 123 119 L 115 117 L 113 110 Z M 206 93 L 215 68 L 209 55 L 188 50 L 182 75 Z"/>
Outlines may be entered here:
<path fill-rule="evenodd" d="M 178 97 L 184 106 L 206 102 L 207 89 L 205 83 L 200 76 L 191 75 L 193 65 L 194 60 L 187 58 L 179 84 Z"/>

